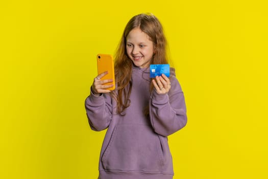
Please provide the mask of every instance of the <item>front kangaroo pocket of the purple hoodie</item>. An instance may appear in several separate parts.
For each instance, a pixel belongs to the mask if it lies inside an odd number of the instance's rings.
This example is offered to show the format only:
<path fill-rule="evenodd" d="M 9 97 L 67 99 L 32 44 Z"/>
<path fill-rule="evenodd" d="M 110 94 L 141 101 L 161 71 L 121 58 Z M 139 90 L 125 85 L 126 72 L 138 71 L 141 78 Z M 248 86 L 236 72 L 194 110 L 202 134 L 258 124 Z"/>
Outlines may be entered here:
<path fill-rule="evenodd" d="M 106 170 L 159 171 L 164 159 L 158 135 L 146 125 L 117 125 L 102 164 Z"/>

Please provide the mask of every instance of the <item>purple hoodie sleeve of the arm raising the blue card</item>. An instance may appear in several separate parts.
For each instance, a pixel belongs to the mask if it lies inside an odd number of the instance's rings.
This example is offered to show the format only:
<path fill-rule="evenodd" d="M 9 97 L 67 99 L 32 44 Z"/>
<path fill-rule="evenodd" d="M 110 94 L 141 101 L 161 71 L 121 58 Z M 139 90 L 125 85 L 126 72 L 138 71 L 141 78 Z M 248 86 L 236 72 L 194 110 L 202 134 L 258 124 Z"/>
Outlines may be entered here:
<path fill-rule="evenodd" d="M 157 94 L 154 90 L 150 100 L 150 120 L 156 133 L 169 136 L 187 123 L 184 94 L 175 76 L 170 78 L 172 87 L 168 94 Z"/>

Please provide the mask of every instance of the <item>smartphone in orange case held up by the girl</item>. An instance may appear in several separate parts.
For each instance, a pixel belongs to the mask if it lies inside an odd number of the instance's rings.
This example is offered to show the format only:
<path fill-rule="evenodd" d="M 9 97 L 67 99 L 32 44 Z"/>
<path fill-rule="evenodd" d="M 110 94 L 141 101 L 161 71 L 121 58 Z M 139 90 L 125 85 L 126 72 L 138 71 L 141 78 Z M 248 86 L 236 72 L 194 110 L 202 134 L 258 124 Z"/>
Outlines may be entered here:
<path fill-rule="evenodd" d="M 97 66 L 98 66 L 98 75 L 108 71 L 108 74 L 102 77 L 101 79 L 102 80 L 113 79 L 113 82 L 105 83 L 105 85 L 113 84 L 112 87 L 107 88 L 108 90 L 113 90 L 115 88 L 113 56 L 109 54 L 98 54 Z"/>

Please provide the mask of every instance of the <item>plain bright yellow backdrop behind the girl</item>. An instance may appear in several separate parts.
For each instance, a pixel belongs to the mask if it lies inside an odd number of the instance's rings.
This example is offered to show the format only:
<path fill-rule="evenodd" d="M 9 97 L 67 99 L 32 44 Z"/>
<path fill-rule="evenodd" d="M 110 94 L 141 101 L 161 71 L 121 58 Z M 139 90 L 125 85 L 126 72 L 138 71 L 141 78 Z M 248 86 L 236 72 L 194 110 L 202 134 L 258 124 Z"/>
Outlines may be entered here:
<path fill-rule="evenodd" d="M 1 1 L 0 178 L 98 176 L 105 131 L 84 109 L 95 55 L 142 12 L 163 24 L 186 98 L 174 179 L 268 178 L 265 2 Z"/>

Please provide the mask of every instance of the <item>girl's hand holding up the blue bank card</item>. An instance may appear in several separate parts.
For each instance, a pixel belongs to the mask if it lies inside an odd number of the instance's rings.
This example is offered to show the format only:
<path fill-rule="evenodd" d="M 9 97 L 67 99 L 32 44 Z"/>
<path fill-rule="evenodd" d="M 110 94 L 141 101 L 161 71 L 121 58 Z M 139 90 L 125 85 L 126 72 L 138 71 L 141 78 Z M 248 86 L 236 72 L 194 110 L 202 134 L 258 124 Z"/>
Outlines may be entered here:
<path fill-rule="evenodd" d="M 169 78 L 167 78 L 164 74 L 162 74 L 161 76 L 156 76 L 155 79 L 152 80 L 152 82 L 158 94 L 167 94 L 171 87 Z"/>

